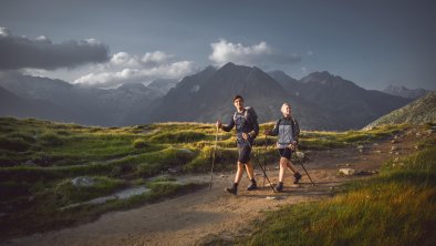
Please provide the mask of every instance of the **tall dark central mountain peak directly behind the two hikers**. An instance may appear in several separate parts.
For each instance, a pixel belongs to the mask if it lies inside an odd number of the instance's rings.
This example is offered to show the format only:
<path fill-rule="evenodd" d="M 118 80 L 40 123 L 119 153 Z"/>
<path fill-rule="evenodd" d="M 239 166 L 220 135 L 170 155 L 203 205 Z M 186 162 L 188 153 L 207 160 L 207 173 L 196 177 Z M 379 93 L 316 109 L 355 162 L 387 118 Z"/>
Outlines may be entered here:
<path fill-rule="evenodd" d="M 256 109 L 260 122 L 277 120 L 283 102 L 291 102 L 293 115 L 304 129 L 334 129 L 336 122 L 310 102 L 290 95 L 274 79 L 258 68 L 227 63 L 219 70 L 208 68 L 187 76 L 156 105 L 152 122 L 198 121 L 227 123 L 241 94 L 245 105 Z"/>

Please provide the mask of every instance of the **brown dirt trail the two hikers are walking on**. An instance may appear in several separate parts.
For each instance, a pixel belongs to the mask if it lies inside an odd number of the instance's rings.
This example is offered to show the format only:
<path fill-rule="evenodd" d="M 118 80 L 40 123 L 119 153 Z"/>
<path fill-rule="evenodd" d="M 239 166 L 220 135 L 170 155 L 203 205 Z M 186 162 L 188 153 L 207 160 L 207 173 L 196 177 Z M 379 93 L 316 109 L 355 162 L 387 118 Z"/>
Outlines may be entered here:
<path fill-rule="evenodd" d="M 311 161 L 305 167 L 315 186 L 305 175 L 299 186 L 291 186 L 291 174 L 287 173 L 283 193 L 273 194 L 268 186 L 247 192 L 245 186 L 248 180 L 243 177 L 238 196 L 233 196 L 224 192 L 232 183 L 233 174 L 218 173 L 210 192 L 206 188 L 157 204 L 108 213 L 90 224 L 17 238 L 6 245 L 195 245 L 210 237 L 231 239 L 247 233 L 249 223 L 259 218 L 262 211 L 326 198 L 344 182 L 364 177 L 339 176 L 339 168 L 374 171 L 387 158 L 413 153 L 416 139 L 414 131 L 399 134 L 394 144 L 391 142 L 393 139 L 388 139 L 365 145 L 363 153 L 355 146 L 309 153 Z M 393 145 L 398 150 L 390 153 Z M 277 182 L 278 170 L 273 170 L 272 164 L 270 167 L 269 177 Z M 301 166 L 297 168 L 304 173 Z M 189 178 L 208 182 L 209 175 Z M 257 180 L 262 185 L 262 176 L 258 175 Z M 267 199 L 269 196 L 278 199 Z"/>

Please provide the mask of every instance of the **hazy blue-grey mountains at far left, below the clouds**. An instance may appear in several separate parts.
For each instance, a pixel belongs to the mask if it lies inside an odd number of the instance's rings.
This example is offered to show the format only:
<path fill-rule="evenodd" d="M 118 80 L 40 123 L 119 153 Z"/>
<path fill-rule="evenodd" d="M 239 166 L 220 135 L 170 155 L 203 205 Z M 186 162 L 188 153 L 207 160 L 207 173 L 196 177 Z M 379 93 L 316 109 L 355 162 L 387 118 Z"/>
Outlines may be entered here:
<path fill-rule="evenodd" d="M 131 109 L 149 105 L 152 101 L 163 95 L 159 91 L 143 84 L 125 84 L 117 89 L 103 90 L 21 74 L 2 74 L 0 86 L 27 101 L 42 100 L 63 109 L 63 112 L 69 112 L 71 115 L 69 120 L 75 123 L 104 126 L 122 125 Z M 44 119 L 42 115 L 40 117 Z"/>

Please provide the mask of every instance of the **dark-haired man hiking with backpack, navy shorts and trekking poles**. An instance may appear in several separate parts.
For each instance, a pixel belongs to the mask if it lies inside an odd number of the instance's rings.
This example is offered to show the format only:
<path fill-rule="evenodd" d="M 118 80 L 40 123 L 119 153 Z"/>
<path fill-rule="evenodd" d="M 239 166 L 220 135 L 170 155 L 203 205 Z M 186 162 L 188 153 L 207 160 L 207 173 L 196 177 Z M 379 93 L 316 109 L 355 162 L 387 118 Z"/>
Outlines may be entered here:
<path fill-rule="evenodd" d="M 256 112 L 252 107 L 243 107 L 243 99 L 240 95 L 233 98 L 233 105 L 236 112 L 230 120 L 228 125 L 222 125 L 220 121 L 217 121 L 216 125 L 226 132 L 229 132 L 236 126 L 236 137 L 238 146 L 238 171 L 236 172 L 235 183 L 230 188 L 226 188 L 227 192 L 236 195 L 238 192 L 238 184 L 242 177 L 243 166 L 246 166 L 248 177 L 251 184 L 247 187 L 247 191 L 253 191 L 258 186 L 256 184 L 252 165 L 250 163 L 251 146 L 255 137 L 259 134 L 259 123 Z"/>

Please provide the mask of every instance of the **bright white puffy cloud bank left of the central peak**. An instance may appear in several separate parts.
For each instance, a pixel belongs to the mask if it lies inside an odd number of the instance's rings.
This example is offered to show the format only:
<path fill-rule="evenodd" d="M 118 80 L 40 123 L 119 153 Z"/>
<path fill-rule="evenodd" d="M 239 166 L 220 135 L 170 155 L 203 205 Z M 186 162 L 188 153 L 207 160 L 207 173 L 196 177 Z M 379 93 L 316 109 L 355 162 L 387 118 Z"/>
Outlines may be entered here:
<path fill-rule="evenodd" d="M 146 53 L 142 58 L 118 52 L 96 70 L 80 76 L 74 83 L 114 88 L 123 83 L 147 83 L 155 79 L 181 79 L 195 72 L 193 61 L 174 61 L 174 55 L 162 51 Z"/>

